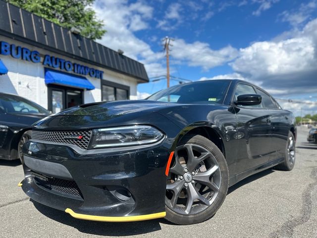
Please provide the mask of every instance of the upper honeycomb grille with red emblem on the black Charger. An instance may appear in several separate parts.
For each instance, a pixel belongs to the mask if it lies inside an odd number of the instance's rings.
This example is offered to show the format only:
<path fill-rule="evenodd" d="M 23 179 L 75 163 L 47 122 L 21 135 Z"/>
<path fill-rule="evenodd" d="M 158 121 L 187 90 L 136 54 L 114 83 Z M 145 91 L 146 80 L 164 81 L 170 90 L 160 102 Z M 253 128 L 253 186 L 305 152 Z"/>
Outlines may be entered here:
<path fill-rule="evenodd" d="M 32 130 L 31 138 L 38 141 L 72 144 L 86 150 L 88 148 L 91 130 Z M 74 138 L 65 138 L 65 137 Z M 77 139 L 76 137 L 81 136 Z"/>

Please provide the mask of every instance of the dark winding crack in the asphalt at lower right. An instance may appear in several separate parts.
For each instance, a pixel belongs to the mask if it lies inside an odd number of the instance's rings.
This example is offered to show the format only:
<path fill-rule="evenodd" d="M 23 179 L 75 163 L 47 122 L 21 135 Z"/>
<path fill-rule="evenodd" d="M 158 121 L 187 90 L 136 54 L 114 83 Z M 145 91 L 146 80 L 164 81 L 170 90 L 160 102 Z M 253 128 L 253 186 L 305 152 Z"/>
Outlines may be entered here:
<path fill-rule="evenodd" d="M 272 232 L 269 237 L 292 237 L 296 227 L 309 221 L 313 209 L 312 192 L 315 187 L 317 187 L 317 168 L 312 170 L 310 177 L 314 179 L 314 182 L 308 184 L 302 193 L 302 209 L 300 216 L 286 221 L 280 229 Z"/>

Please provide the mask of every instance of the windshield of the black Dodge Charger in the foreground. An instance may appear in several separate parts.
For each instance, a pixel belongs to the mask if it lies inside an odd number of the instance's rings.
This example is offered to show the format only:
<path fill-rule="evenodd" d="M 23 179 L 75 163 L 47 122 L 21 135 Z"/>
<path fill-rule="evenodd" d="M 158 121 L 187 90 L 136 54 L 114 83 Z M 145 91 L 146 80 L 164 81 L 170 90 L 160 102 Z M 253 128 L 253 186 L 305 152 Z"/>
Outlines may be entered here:
<path fill-rule="evenodd" d="M 222 103 L 230 80 L 209 80 L 177 85 L 153 94 L 147 100 L 173 103 Z"/>

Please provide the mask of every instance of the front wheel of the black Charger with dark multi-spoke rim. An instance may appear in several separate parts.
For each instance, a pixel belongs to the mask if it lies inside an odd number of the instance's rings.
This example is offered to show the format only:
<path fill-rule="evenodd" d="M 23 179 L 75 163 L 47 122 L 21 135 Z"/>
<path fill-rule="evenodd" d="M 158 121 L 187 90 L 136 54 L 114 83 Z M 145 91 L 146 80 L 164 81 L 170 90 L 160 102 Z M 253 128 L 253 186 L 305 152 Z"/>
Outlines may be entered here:
<path fill-rule="evenodd" d="M 201 135 L 185 136 L 174 151 L 166 184 L 166 219 L 187 225 L 211 218 L 224 201 L 229 183 L 225 158 Z"/>

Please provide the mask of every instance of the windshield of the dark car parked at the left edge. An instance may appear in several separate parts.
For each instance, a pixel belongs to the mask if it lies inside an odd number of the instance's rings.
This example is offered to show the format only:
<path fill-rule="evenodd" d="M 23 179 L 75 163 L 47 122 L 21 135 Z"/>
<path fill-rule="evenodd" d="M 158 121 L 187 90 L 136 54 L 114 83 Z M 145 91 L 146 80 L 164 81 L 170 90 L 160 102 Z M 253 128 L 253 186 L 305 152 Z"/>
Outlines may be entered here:
<path fill-rule="evenodd" d="M 50 112 L 27 99 L 7 94 L 0 94 L 0 111 L 19 114 L 45 114 Z"/>

